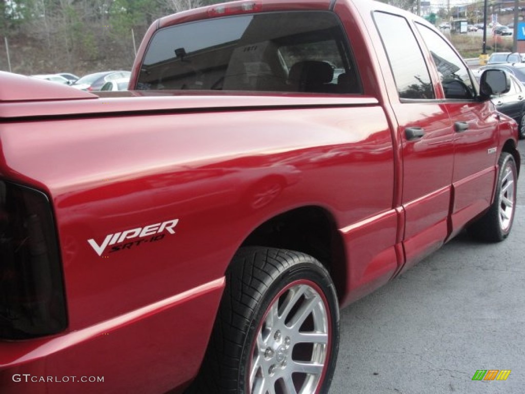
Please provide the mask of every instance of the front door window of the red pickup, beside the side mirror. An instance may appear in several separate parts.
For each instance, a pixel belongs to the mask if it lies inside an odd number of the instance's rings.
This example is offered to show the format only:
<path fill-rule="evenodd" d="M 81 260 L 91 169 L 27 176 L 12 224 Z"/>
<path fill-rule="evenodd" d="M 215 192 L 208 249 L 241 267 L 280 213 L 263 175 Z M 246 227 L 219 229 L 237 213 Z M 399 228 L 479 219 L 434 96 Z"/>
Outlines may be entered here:
<path fill-rule="evenodd" d="M 456 100 L 474 99 L 476 90 L 470 79 L 468 69 L 461 61 L 461 58 L 450 47 L 450 44 L 432 29 L 421 24 L 416 24 L 416 26 L 439 72 L 445 98 Z"/>

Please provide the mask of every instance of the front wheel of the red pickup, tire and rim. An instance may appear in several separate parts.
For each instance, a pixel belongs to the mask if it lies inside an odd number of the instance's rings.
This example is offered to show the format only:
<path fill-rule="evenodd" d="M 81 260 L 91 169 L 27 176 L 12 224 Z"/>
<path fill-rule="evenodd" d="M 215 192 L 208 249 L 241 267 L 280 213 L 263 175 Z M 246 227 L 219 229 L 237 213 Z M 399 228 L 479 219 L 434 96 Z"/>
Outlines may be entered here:
<path fill-rule="evenodd" d="M 489 210 L 467 229 L 476 239 L 486 242 L 505 240 L 510 234 L 516 212 L 516 162 L 510 153 L 502 152 L 498 167 L 494 202 Z"/>

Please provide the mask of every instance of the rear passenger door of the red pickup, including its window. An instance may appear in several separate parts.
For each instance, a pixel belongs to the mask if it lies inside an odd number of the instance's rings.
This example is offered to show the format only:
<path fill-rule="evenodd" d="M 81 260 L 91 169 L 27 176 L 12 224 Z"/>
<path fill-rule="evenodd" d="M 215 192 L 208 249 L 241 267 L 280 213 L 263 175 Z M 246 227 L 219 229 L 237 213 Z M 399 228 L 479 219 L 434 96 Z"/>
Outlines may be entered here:
<path fill-rule="evenodd" d="M 413 28 L 402 16 L 376 12 L 374 18 L 394 78 L 388 94 L 402 150 L 406 269 L 447 237 L 454 132 Z M 384 73 L 387 85 L 392 76 Z"/>

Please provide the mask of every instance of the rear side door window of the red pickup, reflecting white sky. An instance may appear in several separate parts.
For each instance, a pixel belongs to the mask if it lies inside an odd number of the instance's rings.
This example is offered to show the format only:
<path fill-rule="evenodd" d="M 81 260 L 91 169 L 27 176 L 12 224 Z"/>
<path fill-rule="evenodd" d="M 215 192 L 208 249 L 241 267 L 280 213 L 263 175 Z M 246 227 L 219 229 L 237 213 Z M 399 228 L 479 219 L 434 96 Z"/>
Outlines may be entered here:
<path fill-rule="evenodd" d="M 374 13 L 374 19 L 390 61 L 399 97 L 435 99 L 425 59 L 407 20 L 382 12 Z"/>

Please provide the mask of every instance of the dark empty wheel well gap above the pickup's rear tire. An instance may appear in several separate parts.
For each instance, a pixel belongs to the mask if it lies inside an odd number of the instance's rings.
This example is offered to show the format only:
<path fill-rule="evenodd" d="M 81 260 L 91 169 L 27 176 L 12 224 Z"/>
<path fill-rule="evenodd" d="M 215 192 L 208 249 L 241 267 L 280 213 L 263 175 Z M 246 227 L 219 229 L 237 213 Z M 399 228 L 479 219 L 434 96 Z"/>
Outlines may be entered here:
<path fill-rule="evenodd" d="M 306 253 L 327 268 L 339 299 L 346 292 L 342 238 L 332 215 L 318 206 L 282 213 L 262 223 L 241 246 L 268 246 Z"/>

